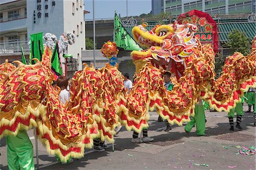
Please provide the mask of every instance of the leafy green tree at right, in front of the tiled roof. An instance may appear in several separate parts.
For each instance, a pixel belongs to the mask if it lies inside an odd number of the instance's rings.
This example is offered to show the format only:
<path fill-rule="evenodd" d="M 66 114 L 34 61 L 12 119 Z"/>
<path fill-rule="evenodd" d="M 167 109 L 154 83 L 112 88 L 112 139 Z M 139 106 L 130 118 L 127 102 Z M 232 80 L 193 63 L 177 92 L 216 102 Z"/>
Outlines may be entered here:
<path fill-rule="evenodd" d="M 250 53 L 249 38 L 243 32 L 235 29 L 229 33 L 228 39 L 226 47 L 230 48 L 232 53 L 241 52 L 243 55 Z"/>

